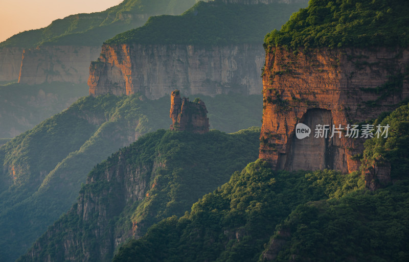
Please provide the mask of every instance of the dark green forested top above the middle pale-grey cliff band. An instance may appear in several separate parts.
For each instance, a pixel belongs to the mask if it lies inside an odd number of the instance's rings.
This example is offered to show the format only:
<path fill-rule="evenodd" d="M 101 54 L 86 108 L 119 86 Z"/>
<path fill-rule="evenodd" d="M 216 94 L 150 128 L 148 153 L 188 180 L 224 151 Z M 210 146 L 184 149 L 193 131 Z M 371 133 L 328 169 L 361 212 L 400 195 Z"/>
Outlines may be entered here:
<path fill-rule="evenodd" d="M 179 16 L 150 17 L 143 27 L 121 33 L 107 44 L 225 45 L 261 43 L 271 28 L 280 28 L 307 1 L 293 4 L 225 4 L 199 2 Z"/>

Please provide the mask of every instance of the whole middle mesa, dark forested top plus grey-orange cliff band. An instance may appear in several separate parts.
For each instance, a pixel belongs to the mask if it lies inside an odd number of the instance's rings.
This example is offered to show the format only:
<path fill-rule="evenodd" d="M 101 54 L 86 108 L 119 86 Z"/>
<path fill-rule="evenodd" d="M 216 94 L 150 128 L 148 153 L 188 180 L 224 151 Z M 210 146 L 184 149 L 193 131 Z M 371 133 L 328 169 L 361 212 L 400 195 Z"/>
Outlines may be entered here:
<path fill-rule="evenodd" d="M 138 92 L 149 99 L 176 88 L 187 96 L 260 93 L 262 37 L 306 2 L 243 4 L 200 2 L 105 41 L 90 65 L 89 93 Z"/>

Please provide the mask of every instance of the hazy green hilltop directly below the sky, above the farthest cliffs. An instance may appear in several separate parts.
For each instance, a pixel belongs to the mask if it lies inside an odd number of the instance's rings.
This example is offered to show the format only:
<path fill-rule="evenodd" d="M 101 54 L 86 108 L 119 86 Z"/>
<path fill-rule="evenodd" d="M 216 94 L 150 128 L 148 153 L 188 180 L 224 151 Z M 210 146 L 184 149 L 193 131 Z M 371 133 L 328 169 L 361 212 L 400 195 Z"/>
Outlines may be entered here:
<path fill-rule="evenodd" d="M 100 45 L 118 33 L 142 26 L 151 15 L 181 14 L 195 3 L 196 0 L 124 0 L 102 12 L 70 15 L 48 27 L 16 34 L 0 43 L 0 48 Z"/>

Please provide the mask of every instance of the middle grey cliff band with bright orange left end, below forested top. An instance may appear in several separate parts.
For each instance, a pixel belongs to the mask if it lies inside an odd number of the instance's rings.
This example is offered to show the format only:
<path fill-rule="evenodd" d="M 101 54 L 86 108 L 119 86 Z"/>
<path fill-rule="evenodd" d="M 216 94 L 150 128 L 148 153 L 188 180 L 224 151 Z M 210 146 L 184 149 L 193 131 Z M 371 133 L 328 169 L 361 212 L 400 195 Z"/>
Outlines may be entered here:
<path fill-rule="evenodd" d="M 261 45 L 103 45 L 89 69 L 89 93 L 141 93 L 149 99 L 176 88 L 186 95 L 258 94 L 263 63 Z"/>

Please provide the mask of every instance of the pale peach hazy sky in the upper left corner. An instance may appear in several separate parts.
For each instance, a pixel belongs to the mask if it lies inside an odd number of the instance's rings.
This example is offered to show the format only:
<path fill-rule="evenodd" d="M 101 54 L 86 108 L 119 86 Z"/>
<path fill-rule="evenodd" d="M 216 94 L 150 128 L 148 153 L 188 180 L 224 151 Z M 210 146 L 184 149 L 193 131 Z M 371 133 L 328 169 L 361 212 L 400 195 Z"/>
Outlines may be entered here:
<path fill-rule="evenodd" d="M 0 0 L 0 42 L 12 35 L 50 25 L 58 18 L 103 11 L 122 0 Z"/>

